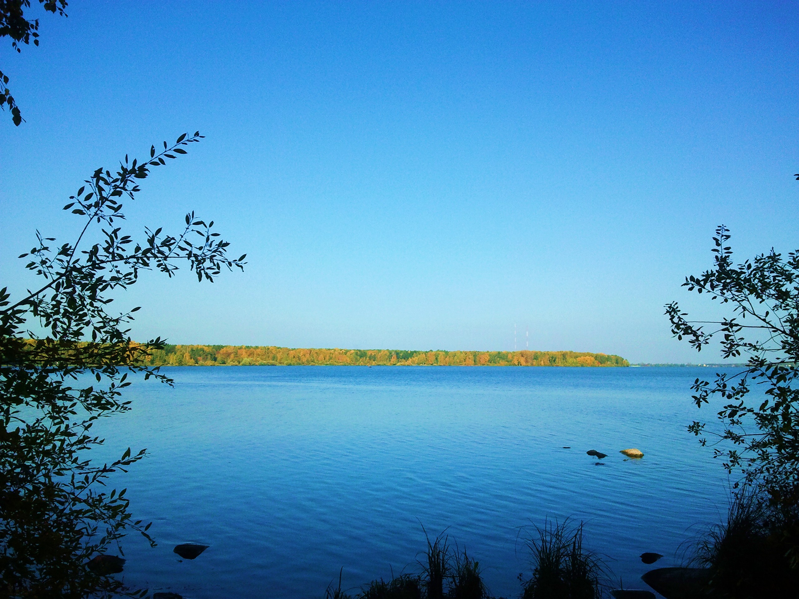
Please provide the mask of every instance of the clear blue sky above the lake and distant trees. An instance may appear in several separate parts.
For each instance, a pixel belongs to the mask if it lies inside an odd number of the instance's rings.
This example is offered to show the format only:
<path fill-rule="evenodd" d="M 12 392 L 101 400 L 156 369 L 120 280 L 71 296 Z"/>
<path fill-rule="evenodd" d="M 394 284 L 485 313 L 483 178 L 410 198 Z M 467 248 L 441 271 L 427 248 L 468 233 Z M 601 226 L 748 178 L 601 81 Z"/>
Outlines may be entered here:
<path fill-rule="evenodd" d="M 343 6 L 344 5 L 344 6 Z M 34 14 L 38 7 L 31 10 Z M 605 351 L 710 361 L 663 304 L 799 246 L 795 2 L 70 2 L 0 68 L 0 277 L 125 153 L 207 137 L 129 224 L 189 209 L 248 254 L 120 307 L 174 343 Z M 686 300 L 697 309 L 702 303 Z"/>

